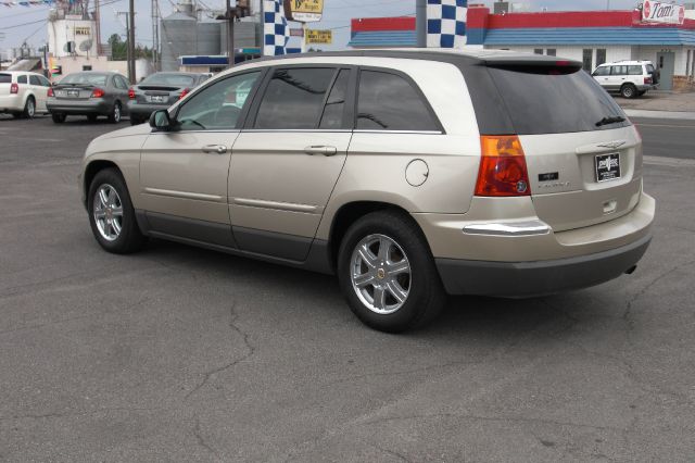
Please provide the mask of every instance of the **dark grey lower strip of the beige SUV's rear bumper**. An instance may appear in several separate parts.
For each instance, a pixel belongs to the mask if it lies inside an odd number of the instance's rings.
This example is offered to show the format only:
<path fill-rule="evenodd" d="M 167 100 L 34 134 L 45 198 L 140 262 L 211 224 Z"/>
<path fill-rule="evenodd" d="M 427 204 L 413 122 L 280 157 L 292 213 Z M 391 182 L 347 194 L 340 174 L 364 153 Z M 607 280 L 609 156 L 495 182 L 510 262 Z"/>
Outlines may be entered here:
<path fill-rule="evenodd" d="M 644 255 L 652 235 L 609 251 L 539 262 L 437 259 L 450 295 L 531 297 L 586 288 L 617 278 Z"/>

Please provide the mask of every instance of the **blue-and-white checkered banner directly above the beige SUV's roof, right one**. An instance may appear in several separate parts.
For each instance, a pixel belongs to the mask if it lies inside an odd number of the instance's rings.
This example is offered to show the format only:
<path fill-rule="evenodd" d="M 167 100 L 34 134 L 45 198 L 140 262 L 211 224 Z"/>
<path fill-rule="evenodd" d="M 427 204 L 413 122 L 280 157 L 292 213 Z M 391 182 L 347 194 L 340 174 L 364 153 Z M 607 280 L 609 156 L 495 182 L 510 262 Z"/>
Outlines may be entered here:
<path fill-rule="evenodd" d="M 427 47 L 460 48 L 466 45 L 468 0 L 427 0 Z"/>

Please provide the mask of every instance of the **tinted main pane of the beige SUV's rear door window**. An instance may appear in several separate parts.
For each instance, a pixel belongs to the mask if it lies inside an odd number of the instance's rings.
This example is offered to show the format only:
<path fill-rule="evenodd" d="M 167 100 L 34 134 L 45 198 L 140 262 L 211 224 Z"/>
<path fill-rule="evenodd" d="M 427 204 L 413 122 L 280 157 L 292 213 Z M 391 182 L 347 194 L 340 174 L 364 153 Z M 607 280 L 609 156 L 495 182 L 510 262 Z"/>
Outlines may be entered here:
<path fill-rule="evenodd" d="M 276 70 L 265 90 L 254 128 L 314 129 L 324 110 L 334 68 Z"/>

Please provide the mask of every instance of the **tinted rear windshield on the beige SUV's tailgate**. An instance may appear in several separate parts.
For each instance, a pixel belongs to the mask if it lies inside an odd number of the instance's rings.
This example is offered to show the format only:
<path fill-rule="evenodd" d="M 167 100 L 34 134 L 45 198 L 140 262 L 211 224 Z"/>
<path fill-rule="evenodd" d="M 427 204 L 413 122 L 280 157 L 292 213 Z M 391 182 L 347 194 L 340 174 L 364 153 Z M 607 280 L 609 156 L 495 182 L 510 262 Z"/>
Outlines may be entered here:
<path fill-rule="evenodd" d="M 570 74 L 555 68 L 489 68 L 511 125 L 519 135 L 560 134 L 612 129 L 629 122 L 596 126 L 604 117 L 624 113 L 583 71 Z M 627 118 L 627 117 L 626 117 Z"/>

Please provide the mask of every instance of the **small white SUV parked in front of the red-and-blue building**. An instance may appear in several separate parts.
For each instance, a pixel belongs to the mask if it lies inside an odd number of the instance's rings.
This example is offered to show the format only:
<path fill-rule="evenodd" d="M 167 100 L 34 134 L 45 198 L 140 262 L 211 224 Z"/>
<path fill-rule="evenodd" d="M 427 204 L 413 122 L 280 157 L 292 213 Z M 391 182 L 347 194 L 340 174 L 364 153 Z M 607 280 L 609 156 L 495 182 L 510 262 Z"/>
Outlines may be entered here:
<path fill-rule="evenodd" d="M 650 61 L 617 61 L 596 67 L 592 76 L 606 89 L 622 98 L 642 97 L 659 84 L 658 72 Z"/>

